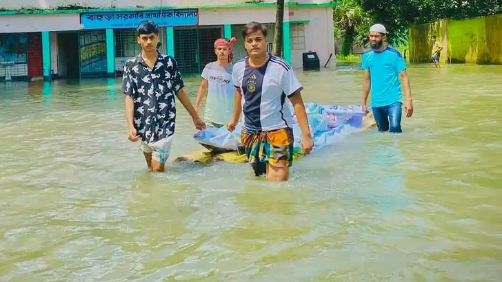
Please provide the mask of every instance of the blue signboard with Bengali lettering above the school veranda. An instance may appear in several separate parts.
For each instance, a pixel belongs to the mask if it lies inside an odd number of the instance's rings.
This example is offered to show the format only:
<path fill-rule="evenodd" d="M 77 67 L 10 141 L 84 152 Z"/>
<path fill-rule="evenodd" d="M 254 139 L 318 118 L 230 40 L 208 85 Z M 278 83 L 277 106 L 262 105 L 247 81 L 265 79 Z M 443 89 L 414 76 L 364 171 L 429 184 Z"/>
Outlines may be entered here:
<path fill-rule="evenodd" d="M 80 14 L 84 30 L 105 28 L 137 28 L 141 21 L 152 20 L 159 26 L 199 24 L 199 10 L 165 10 L 138 12 L 91 12 Z"/>

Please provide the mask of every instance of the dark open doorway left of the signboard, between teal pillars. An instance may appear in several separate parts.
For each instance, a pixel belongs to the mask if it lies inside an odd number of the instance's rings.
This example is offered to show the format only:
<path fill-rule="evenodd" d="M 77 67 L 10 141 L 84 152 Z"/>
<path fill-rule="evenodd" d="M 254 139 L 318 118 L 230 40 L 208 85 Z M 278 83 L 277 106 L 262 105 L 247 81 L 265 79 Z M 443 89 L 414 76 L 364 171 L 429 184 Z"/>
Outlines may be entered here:
<path fill-rule="evenodd" d="M 58 75 L 66 79 L 80 79 L 78 32 L 57 34 Z"/>

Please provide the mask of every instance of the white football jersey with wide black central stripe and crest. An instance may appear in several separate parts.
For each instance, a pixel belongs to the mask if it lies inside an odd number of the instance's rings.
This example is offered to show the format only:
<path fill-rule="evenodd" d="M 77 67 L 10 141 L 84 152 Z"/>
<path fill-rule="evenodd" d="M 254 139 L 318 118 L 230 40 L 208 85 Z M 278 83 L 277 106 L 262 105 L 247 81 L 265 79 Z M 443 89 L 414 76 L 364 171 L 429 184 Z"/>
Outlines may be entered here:
<path fill-rule="evenodd" d="M 263 67 L 254 68 L 248 57 L 237 61 L 232 71 L 234 87 L 242 93 L 244 127 L 250 131 L 292 128 L 290 107 L 286 98 L 303 87 L 290 64 L 270 55 Z"/>

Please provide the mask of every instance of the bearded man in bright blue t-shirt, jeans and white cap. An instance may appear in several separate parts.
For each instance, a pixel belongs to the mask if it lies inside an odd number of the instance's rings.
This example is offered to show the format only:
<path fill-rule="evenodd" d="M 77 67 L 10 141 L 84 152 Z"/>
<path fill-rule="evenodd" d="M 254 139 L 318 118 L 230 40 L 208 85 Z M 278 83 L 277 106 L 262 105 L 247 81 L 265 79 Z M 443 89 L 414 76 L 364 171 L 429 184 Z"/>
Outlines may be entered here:
<path fill-rule="evenodd" d="M 385 44 L 387 30 L 381 24 L 370 28 L 371 50 L 363 54 L 361 69 L 364 70 L 363 111 L 371 89 L 371 107 L 379 131 L 401 133 L 401 83 L 406 93 L 406 117 L 413 114 L 412 91 L 406 72 L 406 64 L 398 50 Z"/>

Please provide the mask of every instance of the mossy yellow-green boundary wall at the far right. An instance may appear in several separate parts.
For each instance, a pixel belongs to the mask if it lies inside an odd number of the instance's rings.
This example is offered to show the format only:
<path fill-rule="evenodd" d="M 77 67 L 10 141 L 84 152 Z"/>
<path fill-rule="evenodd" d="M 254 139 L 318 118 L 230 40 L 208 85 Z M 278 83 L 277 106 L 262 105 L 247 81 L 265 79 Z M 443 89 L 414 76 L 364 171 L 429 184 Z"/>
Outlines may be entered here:
<path fill-rule="evenodd" d="M 432 34 L 444 47 L 441 52 L 443 62 L 502 64 L 502 14 L 411 26 L 411 62 L 432 62 Z"/>

